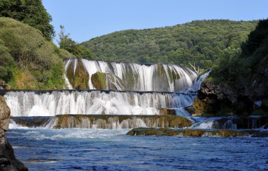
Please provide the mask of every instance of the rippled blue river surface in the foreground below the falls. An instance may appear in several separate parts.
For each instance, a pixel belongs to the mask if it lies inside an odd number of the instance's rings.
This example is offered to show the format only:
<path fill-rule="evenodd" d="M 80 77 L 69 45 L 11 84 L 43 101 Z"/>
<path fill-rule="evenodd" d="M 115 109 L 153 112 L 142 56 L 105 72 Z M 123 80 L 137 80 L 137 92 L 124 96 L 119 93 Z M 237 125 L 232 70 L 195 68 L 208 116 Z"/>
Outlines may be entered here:
<path fill-rule="evenodd" d="M 267 170 L 268 138 L 131 137 L 127 129 L 10 129 L 30 170 Z"/>

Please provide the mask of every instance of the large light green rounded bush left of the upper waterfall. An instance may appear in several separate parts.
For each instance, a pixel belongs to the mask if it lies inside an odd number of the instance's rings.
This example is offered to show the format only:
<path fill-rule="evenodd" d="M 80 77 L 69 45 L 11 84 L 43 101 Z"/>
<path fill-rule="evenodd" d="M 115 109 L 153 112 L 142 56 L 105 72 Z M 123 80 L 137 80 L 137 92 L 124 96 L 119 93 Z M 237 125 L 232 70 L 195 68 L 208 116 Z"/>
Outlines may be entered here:
<path fill-rule="evenodd" d="M 0 78 L 18 89 L 63 86 L 63 61 L 39 30 L 11 18 L 0 18 Z M 6 74 L 8 73 L 8 74 Z"/>

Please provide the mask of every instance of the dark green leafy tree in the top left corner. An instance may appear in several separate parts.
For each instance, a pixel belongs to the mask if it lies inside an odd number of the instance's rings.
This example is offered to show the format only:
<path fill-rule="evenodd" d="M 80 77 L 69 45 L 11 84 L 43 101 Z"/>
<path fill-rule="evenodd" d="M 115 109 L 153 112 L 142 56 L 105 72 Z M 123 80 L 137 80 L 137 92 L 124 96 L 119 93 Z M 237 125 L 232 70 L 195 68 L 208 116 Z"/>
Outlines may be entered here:
<path fill-rule="evenodd" d="M 44 37 L 51 40 L 54 27 L 52 18 L 42 4 L 42 0 L 1 0 L 0 17 L 8 17 L 26 23 L 40 30 Z"/>

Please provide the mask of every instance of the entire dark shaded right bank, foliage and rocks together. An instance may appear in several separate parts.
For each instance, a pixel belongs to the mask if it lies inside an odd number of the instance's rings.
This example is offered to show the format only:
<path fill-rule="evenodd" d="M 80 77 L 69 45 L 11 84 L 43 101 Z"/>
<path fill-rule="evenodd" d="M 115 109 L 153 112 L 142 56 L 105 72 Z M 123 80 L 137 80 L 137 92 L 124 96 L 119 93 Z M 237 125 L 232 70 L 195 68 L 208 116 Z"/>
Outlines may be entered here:
<path fill-rule="evenodd" d="M 240 53 L 219 58 L 202 83 L 194 104 L 200 113 L 267 115 L 268 20 L 260 20 L 240 46 Z"/>

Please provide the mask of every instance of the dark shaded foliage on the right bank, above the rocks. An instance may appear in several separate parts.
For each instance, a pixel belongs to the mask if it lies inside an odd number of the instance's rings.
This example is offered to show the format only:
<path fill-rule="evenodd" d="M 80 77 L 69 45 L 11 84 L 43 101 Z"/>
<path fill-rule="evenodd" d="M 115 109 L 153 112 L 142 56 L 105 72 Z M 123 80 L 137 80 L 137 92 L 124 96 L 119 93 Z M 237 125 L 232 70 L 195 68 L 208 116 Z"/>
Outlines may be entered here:
<path fill-rule="evenodd" d="M 248 91 L 252 78 L 256 77 L 268 58 L 268 20 L 260 20 L 255 30 L 250 32 L 248 40 L 241 45 L 242 51 L 226 51 L 214 66 L 212 77 L 234 89 Z"/>

